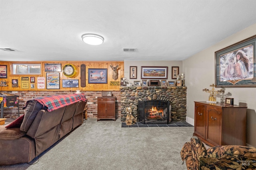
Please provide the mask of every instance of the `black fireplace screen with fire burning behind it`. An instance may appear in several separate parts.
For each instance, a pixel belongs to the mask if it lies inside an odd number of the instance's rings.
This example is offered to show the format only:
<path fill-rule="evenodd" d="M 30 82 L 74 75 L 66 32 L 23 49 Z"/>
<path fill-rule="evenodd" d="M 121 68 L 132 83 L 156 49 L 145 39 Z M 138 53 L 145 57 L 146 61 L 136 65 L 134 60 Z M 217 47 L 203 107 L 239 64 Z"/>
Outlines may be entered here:
<path fill-rule="evenodd" d="M 168 124 L 170 121 L 169 101 L 139 101 L 139 121 L 144 124 Z"/>

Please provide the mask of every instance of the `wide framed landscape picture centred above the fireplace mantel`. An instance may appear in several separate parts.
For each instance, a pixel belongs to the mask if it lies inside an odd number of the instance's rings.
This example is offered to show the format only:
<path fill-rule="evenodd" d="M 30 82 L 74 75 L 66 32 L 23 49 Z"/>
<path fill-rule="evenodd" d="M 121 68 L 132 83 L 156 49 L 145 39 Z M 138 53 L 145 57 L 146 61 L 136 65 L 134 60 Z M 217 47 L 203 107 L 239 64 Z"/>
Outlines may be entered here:
<path fill-rule="evenodd" d="M 142 66 L 141 79 L 168 79 L 168 67 Z"/>

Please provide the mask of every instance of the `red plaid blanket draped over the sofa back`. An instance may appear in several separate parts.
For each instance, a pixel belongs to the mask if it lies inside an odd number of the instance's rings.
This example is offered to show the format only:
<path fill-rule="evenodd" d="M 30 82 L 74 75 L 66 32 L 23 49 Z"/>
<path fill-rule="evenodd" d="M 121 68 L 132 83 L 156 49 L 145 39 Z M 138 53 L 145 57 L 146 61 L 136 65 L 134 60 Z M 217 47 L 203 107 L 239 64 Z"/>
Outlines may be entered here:
<path fill-rule="evenodd" d="M 84 94 L 68 94 L 68 95 L 56 95 L 56 96 L 44 96 L 39 98 L 34 98 L 32 100 L 38 101 L 43 105 L 43 109 L 47 111 L 53 111 L 60 107 L 68 106 L 70 104 L 79 102 L 80 100 L 86 102 L 86 96 Z M 26 106 L 23 107 L 25 109 L 27 107 L 28 100 L 26 102 Z"/>

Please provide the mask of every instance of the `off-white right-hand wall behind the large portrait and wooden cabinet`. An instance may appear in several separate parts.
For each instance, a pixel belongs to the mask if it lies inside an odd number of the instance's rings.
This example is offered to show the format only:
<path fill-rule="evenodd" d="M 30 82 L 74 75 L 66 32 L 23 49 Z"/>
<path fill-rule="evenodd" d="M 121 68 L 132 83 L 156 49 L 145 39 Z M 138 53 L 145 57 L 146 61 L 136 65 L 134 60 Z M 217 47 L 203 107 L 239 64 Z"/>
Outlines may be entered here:
<path fill-rule="evenodd" d="M 186 75 L 186 86 L 188 87 L 187 117 L 189 120 L 194 119 L 194 101 L 208 100 L 209 94 L 203 92 L 202 89 L 209 89 L 209 85 L 215 83 L 214 52 L 253 35 L 256 35 L 256 24 L 183 61 L 183 71 Z M 232 94 L 234 104 L 241 105 L 245 103 L 247 105 L 246 143 L 248 146 L 256 147 L 256 88 L 226 88 L 225 93 L 227 92 Z M 217 101 L 220 102 L 220 98 L 217 98 Z"/>

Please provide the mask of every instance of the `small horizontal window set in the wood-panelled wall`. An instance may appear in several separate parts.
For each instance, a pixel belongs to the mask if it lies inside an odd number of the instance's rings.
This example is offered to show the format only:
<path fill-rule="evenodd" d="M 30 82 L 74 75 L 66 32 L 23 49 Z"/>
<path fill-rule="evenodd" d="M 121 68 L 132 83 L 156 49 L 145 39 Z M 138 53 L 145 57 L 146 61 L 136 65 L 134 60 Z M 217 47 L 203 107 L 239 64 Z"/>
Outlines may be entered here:
<path fill-rule="evenodd" d="M 41 74 L 41 64 L 12 64 L 12 74 Z"/>

